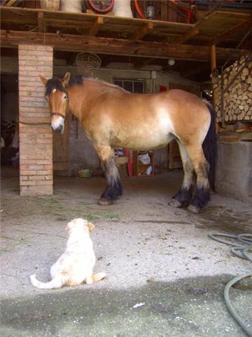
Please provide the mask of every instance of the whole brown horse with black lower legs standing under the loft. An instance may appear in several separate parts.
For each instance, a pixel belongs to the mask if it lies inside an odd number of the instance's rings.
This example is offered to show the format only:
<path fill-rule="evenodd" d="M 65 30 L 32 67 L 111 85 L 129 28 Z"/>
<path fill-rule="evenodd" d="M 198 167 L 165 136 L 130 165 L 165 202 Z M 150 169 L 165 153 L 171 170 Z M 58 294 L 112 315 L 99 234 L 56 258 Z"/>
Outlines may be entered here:
<path fill-rule="evenodd" d="M 97 79 L 70 77 L 69 72 L 62 79 L 41 77 L 52 116 L 52 130 L 64 132 L 68 110 L 80 121 L 106 176 L 106 190 L 99 204 L 111 204 L 123 193 L 113 148 L 155 150 L 176 139 L 184 178 L 170 204 L 189 206 L 195 213 L 207 205 L 216 158 L 214 108 L 209 103 L 182 90 L 133 94 Z M 203 142 L 209 145 L 208 161 L 202 150 Z M 193 193 L 194 172 L 197 183 Z M 208 173 L 211 174 L 208 176 Z"/>

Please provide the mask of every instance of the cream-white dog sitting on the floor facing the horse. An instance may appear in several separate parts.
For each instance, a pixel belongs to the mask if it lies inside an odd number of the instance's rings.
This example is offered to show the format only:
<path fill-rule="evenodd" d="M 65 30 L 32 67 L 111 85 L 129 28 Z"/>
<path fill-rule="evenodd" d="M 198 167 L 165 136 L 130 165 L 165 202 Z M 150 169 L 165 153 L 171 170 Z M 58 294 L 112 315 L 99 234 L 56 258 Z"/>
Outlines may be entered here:
<path fill-rule="evenodd" d="M 95 255 L 90 232 L 94 229 L 92 223 L 83 219 L 74 219 L 66 226 L 69 239 L 66 251 L 50 268 L 52 280 L 48 283 L 39 282 L 35 275 L 31 275 L 31 284 L 41 289 L 56 289 L 62 286 L 76 286 L 85 282 L 91 284 L 104 279 L 106 274 L 99 272 L 93 275 Z"/>

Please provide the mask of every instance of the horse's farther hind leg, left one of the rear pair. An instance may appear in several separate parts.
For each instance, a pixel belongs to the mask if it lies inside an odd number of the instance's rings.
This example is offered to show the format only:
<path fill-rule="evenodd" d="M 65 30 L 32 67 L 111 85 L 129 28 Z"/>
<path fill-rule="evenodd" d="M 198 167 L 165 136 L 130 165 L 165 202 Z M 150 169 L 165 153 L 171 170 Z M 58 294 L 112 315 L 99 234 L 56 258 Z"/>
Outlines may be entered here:
<path fill-rule="evenodd" d="M 172 197 L 172 201 L 169 205 L 174 207 L 187 207 L 190 204 L 193 192 L 193 164 L 188 156 L 186 147 L 184 147 L 179 140 L 177 140 L 177 143 L 179 145 L 181 159 L 183 162 L 184 177 L 179 192 Z"/>

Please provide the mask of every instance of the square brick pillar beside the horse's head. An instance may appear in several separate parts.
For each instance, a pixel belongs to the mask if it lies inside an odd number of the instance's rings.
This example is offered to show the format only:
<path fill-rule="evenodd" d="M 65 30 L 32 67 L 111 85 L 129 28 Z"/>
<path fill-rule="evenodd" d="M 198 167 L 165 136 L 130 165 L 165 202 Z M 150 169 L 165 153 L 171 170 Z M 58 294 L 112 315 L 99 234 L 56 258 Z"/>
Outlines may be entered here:
<path fill-rule="evenodd" d="M 45 86 L 52 78 L 50 46 L 18 46 L 19 117 L 28 123 L 50 123 Z M 52 130 L 50 125 L 20 123 L 20 195 L 52 195 Z"/>

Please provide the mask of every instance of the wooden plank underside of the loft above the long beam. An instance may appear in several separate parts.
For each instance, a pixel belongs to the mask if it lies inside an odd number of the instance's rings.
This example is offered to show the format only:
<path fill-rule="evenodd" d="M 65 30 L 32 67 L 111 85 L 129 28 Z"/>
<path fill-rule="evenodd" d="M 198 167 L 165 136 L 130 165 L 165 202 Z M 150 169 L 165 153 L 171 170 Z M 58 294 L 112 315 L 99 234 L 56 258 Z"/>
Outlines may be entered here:
<path fill-rule="evenodd" d="M 90 13 L 69 13 L 62 11 L 48 11 L 42 9 L 1 7 L 1 29 L 31 31 L 38 28 L 38 13 L 45 24 L 45 32 L 60 32 L 62 34 L 90 35 L 97 16 L 103 18 L 102 25 L 97 29 L 99 37 L 113 37 L 116 39 L 134 39 L 140 29 L 152 22 L 153 27 L 144 35 L 146 41 L 169 41 L 176 43 L 195 25 L 157 20 L 143 20 L 136 18 L 120 18 L 112 15 L 95 15 Z M 199 32 L 194 36 L 197 41 L 206 40 L 226 32 L 231 27 L 248 20 L 251 13 L 216 11 L 204 20 Z M 232 34 L 230 36 L 232 39 Z"/>

